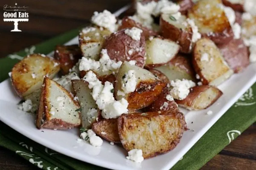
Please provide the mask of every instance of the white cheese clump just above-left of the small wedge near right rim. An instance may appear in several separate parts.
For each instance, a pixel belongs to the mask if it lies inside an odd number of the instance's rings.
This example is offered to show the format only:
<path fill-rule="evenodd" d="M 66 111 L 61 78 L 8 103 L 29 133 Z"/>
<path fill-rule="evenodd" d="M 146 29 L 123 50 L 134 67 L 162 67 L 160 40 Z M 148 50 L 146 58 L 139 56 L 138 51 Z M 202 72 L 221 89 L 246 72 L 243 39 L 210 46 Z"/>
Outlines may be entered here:
<path fill-rule="evenodd" d="M 170 90 L 172 97 L 178 100 L 183 100 L 187 97 L 187 95 L 189 95 L 189 89 L 194 87 L 195 83 L 191 80 L 176 79 L 175 81 L 171 81 L 171 86 L 173 87 Z"/>

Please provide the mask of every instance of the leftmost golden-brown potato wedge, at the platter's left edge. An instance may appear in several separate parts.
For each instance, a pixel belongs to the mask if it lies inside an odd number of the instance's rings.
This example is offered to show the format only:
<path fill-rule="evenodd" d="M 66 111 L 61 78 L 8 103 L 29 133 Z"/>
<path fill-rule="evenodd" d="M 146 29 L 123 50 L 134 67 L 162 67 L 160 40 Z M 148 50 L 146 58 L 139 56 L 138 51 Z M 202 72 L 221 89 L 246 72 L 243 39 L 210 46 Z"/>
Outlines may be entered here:
<path fill-rule="evenodd" d="M 59 70 L 57 60 L 40 54 L 28 55 L 12 68 L 12 85 L 24 97 L 41 88 L 45 75 L 53 78 Z"/>

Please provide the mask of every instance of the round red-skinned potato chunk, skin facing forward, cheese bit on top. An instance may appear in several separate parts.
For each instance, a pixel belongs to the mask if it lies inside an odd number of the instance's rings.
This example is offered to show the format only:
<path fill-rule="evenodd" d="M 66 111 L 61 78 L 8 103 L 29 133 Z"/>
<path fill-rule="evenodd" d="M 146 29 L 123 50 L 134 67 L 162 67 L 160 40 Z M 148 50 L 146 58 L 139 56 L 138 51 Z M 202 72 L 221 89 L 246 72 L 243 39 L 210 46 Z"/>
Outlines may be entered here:
<path fill-rule="evenodd" d="M 119 30 L 106 39 L 103 49 L 107 49 L 110 59 L 116 62 L 135 60 L 137 66 L 143 67 L 145 65 L 145 37 L 143 35 L 141 35 L 140 40 L 133 40 L 125 34 L 125 29 Z M 129 55 L 129 50 L 134 52 Z"/>

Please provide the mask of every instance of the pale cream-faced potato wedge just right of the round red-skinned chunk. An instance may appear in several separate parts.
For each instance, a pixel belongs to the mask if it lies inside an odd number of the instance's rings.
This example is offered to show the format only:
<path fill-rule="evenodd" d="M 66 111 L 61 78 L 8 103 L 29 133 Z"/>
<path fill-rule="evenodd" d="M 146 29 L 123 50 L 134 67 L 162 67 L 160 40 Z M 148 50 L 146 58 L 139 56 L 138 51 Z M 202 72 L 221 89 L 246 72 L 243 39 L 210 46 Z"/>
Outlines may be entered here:
<path fill-rule="evenodd" d="M 146 41 L 145 68 L 151 69 L 171 61 L 179 52 L 180 46 L 169 39 L 154 37 Z"/>

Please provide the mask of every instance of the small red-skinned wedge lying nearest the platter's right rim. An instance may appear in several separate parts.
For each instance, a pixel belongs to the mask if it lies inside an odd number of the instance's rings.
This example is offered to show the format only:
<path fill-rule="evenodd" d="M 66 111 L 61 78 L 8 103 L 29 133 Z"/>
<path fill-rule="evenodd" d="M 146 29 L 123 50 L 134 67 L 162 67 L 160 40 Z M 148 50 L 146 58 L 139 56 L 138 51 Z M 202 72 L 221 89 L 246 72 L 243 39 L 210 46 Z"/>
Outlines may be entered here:
<path fill-rule="evenodd" d="M 202 85 L 190 89 L 189 95 L 183 100 L 175 100 L 180 107 L 189 110 L 201 110 L 211 106 L 223 93 L 215 86 Z"/>

